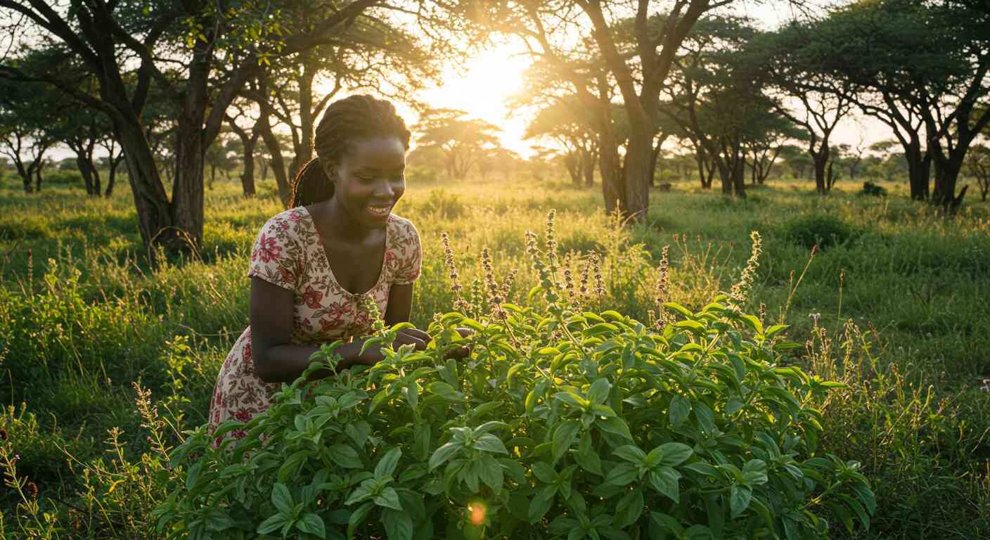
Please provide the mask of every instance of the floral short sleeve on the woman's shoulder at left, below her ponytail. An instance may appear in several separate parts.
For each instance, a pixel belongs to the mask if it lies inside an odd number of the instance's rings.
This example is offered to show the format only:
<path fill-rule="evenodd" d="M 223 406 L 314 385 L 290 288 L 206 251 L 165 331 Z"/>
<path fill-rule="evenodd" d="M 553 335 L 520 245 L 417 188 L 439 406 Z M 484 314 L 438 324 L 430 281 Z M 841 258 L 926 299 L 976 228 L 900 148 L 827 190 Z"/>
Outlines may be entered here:
<path fill-rule="evenodd" d="M 299 277 L 299 249 L 293 239 L 293 221 L 285 214 L 268 220 L 254 241 L 247 275 L 296 290 Z"/>

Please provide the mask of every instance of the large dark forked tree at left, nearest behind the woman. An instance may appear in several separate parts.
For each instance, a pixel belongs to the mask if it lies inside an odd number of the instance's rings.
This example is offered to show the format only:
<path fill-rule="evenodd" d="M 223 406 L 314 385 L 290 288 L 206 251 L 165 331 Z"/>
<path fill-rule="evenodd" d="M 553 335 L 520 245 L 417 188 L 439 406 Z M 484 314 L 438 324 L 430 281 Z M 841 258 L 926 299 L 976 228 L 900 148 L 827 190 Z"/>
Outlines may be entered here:
<path fill-rule="evenodd" d="M 57 73 L 4 65 L 0 75 L 47 82 L 107 114 L 124 148 L 139 229 L 146 245 L 195 249 L 203 237 L 204 153 L 219 134 L 227 106 L 238 90 L 265 62 L 315 47 L 376 3 L 353 0 L 339 10 L 325 11 L 326 17 L 308 29 L 277 38 L 281 29 L 277 18 L 269 17 L 271 5 L 244 3 L 225 7 L 208 0 L 88 0 L 65 6 L 49 0 L 0 0 L 0 15 L 27 23 L 8 25 L 11 32 L 28 28 L 34 35 L 64 48 L 96 76 L 99 94 L 78 92 Z M 170 47 L 181 43 L 180 37 L 185 38 L 185 47 Z M 20 42 L 22 36 L 11 38 Z M 220 63 L 236 67 L 223 77 L 211 76 Z M 174 64 L 182 65 L 184 76 L 180 83 L 164 75 L 164 66 Z M 129 87 L 125 79 L 132 69 L 137 83 Z M 170 198 L 142 122 L 152 82 L 179 111 Z"/>

